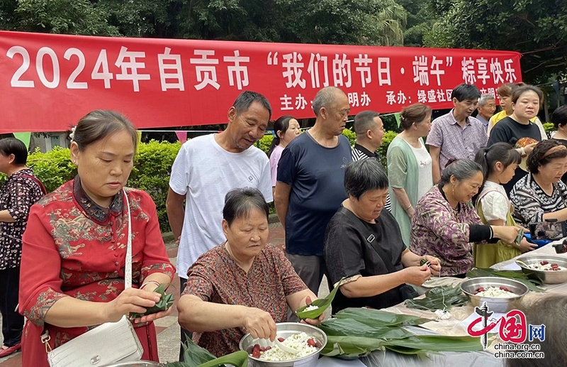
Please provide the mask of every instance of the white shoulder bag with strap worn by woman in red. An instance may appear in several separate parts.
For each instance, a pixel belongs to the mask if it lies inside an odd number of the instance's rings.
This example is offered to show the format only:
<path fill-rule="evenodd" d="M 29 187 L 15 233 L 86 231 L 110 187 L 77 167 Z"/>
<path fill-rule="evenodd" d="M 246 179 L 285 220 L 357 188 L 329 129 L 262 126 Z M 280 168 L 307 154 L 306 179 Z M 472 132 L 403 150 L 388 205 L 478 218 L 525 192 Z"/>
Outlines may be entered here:
<path fill-rule="evenodd" d="M 124 270 L 124 289 L 128 289 L 132 287 L 132 217 L 128 195 L 124 190 L 123 193 L 128 207 L 128 248 Z M 116 362 L 140 361 L 144 353 L 134 327 L 126 316 L 118 322 L 106 322 L 95 327 L 55 349 L 51 349 L 48 343 L 50 336 L 47 330 L 41 340 L 45 344 L 47 362 L 51 367 L 105 366 Z"/>

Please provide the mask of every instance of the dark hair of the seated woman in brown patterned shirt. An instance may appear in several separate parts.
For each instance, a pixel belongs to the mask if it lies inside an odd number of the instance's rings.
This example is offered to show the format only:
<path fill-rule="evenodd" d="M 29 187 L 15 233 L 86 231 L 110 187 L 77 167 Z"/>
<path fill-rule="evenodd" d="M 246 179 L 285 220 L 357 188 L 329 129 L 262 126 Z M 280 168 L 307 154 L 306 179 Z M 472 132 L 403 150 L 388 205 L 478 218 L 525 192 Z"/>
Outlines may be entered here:
<path fill-rule="evenodd" d="M 223 219 L 231 226 L 235 219 L 248 217 L 252 209 L 265 212 L 266 220 L 268 219 L 270 207 L 260 190 L 254 187 L 230 190 L 225 196 Z"/>

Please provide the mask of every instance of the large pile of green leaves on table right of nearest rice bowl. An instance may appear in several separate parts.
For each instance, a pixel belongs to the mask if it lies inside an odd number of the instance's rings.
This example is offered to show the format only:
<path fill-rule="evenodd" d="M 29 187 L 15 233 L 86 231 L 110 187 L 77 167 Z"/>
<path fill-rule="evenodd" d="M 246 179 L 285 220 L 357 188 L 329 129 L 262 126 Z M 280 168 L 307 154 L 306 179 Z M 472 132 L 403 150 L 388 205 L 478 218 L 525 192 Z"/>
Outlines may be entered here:
<path fill-rule="evenodd" d="M 428 319 L 366 308 L 347 308 L 322 322 L 327 334 L 325 356 L 358 358 L 378 349 L 403 354 L 442 351 L 481 351 L 479 338 L 471 336 L 415 335 L 404 326 L 417 326 Z"/>

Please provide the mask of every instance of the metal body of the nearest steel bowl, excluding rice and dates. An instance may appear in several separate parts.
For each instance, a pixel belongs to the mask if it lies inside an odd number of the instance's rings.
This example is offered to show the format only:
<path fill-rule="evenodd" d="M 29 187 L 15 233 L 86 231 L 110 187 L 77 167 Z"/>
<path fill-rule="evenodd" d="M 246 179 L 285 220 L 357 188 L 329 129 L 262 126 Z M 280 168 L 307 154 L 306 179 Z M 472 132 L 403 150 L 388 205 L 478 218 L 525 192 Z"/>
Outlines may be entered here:
<path fill-rule="evenodd" d="M 322 332 L 321 329 L 318 327 L 313 327 L 308 324 L 300 324 L 298 322 L 281 322 L 276 324 L 278 327 L 278 337 L 286 339 L 288 336 L 293 334 L 299 334 L 304 332 L 309 336 L 313 337 L 313 339 L 319 341 L 321 343 L 321 347 L 318 349 L 317 352 L 314 354 L 310 354 L 309 356 L 293 359 L 291 361 L 262 361 L 259 358 L 254 358 L 249 356 L 248 358 L 248 367 L 313 367 L 317 365 L 317 360 L 319 359 L 319 354 L 321 350 L 327 344 L 327 335 Z M 241 351 L 249 351 L 254 346 L 253 344 L 254 338 L 252 335 L 246 334 L 242 340 L 240 340 L 240 350 Z"/>

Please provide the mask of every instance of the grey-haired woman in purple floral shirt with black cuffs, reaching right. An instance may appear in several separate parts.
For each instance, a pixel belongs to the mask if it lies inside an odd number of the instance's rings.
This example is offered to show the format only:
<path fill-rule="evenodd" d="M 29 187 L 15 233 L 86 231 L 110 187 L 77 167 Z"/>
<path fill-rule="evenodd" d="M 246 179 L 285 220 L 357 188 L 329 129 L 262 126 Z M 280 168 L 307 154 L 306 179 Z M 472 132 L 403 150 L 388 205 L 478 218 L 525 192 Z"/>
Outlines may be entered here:
<path fill-rule="evenodd" d="M 439 184 L 417 203 L 410 248 L 441 259 L 441 275 L 464 278 L 473 268 L 472 243 L 513 243 L 519 228 L 482 224 L 471 202 L 483 184 L 481 165 L 462 159 L 450 163 Z"/>

